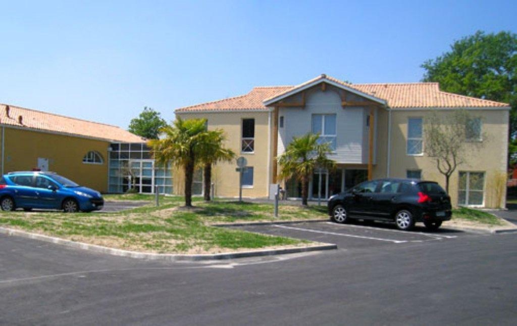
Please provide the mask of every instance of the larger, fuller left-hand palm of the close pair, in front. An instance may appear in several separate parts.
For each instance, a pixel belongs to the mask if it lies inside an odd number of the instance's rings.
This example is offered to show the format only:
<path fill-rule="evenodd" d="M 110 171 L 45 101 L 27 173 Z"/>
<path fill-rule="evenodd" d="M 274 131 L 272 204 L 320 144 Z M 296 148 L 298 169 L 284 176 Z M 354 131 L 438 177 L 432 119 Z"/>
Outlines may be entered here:
<path fill-rule="evenodd" d="M 181 120 L 160 129 L 163 139 L 149 140 L 151 153 L 160 166 L 173 163 L 185 171 L 185 205 L 192 206 L 192 180 L 194 168 L 200 164 L 203 150 L 210 140 L 205 128 L 206 119 Z"/>

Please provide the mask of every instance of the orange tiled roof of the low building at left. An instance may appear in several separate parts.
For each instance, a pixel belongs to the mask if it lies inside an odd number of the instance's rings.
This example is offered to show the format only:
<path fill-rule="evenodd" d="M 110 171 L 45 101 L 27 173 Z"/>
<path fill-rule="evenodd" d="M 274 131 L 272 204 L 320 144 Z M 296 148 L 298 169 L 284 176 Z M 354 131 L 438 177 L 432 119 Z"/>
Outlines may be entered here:
<path fill-rule="evenodd" d="M 9 107 L 9 116 L 7 116 L 7 107 Z M 19 120 L 20 116 L 21 123 Z M 5 104 L 0 104 L 0 125 L 50 131 L 107 141 L 144 141 L 142 137 L 131 134 L 131 132 L 117 126 Z"/>

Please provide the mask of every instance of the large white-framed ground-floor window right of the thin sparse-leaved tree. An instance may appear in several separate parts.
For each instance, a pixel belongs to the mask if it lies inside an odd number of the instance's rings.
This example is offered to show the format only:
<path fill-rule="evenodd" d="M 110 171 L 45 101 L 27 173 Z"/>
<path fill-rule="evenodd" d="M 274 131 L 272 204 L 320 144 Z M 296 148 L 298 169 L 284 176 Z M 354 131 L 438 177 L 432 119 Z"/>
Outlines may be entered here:
<path fill-rule="evenodd" d="M 483 172 L 462 172 L 460 171 L 458 185 L 459 205 L 483 205 Z"/>

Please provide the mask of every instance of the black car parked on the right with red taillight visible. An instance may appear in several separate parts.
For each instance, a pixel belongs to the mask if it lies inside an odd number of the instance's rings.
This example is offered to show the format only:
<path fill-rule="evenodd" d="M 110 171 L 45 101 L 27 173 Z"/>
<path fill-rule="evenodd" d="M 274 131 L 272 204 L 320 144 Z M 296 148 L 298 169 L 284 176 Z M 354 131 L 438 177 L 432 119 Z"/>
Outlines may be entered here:
<path fill-rule="evenodd" d="M 330 219 L 394 221 L 400 230 L 410 230 L 416 222 L 436 230 L 451 218 L 451 199 L 433 181 L 379 179 L 365 181 L 328 200 Z"/>

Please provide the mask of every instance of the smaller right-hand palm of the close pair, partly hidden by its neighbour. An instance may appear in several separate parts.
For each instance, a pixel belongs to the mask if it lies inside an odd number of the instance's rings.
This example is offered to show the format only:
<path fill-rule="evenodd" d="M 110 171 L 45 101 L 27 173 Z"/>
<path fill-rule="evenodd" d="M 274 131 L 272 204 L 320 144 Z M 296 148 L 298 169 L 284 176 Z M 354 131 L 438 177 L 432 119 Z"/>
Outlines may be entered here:
<path fill-rule="evenodd" d="M 201 164 L 203 165 L 204 197 L 210 200 L 210 184 L 212 177 L 212 165 L 219 161 L 231 161 L 235 158 L 235 153 L 230 149 L 225 149 L 223 143 L 226 140 L 224 131 L 221 129 L 208 130 L 209 137 L 202 145 Z"/>

